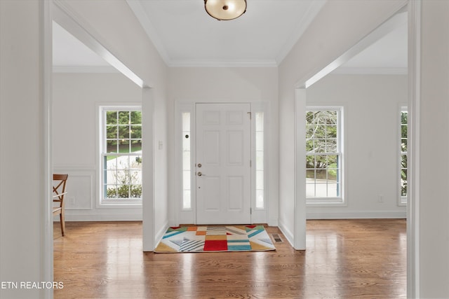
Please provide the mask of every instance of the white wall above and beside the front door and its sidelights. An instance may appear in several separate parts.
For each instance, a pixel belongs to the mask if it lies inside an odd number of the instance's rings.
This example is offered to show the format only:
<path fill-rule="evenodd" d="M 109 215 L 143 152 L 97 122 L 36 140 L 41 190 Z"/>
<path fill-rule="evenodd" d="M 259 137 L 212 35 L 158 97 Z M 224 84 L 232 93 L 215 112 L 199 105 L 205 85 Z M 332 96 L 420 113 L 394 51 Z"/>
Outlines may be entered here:
<path fill-rule="evenodd" d="M 268 174 L 268 223 L 277 225 L 278 219 L 278 103 L 277 103 L 277 69 L 276 68 L 173 68 L 170 69 L 170 148 L 173 149 L 175 137 L 174 103 L 179 102 L 252 102 L 267 105 L 267 130 L 269 148 L 267 162 Z M 175 153 L 170 151 L 170 161 Z M 170 164 L 170 198 L 177 198 L 173 193 L 175 182 L 175 165 Z M 173 208 L 174 209 L 174 208 Z M 173 210 L 172 209 L 172 210 Z M 175 221 L 175 215 L 170 220 Z"/>

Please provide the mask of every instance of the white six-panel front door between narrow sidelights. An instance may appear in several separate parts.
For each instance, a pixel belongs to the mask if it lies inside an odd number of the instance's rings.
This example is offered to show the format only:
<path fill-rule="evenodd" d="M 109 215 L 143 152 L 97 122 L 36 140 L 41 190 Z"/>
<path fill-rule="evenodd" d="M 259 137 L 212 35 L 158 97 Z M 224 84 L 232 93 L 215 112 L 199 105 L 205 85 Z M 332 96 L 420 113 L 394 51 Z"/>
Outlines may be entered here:
<path fill-rule="evenodd" d="M 251 223 L 250 104 L 196 104 L 196 223 Z"/>

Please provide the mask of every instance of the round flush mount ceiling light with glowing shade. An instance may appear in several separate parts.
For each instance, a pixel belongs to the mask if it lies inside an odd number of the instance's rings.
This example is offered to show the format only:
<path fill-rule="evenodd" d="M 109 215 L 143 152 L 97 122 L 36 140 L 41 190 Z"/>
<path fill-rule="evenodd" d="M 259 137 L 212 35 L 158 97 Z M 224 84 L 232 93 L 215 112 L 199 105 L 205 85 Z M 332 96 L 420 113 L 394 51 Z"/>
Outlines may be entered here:
<path fill-rule="evenodd" d="M 217 20 L 234 20 L 246 12 L 246 0 L 204 0 L 207 13 Z"/>

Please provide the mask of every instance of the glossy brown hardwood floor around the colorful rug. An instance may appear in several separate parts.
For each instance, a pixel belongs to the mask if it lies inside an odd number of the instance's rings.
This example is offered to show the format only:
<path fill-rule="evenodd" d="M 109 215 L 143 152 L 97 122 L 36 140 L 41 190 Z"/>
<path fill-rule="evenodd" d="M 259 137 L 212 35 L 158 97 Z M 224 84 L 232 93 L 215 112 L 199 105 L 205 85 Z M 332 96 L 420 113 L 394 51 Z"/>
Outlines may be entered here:
<path fill-rule="evenodd" d="M 54 298 L 406 298 L 406 221 L 307 221 L 307 250 L 142 252 L 138 222 L 54 233 Z"/>

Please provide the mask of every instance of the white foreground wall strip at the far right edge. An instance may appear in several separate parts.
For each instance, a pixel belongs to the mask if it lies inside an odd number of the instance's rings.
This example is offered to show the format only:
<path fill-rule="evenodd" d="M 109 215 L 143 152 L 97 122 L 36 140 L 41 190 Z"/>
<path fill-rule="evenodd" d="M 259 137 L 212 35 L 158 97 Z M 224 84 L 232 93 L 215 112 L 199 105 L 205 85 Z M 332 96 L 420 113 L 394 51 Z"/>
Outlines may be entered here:
<path fill-rule="evenodd" d="M 449 1 L 422 1 L 419 298 L 449 298 L 448 36 Z"/>

